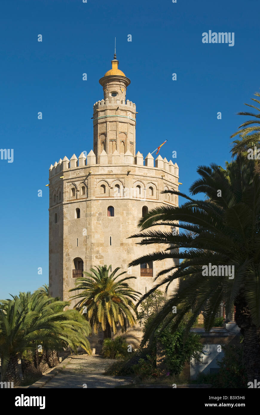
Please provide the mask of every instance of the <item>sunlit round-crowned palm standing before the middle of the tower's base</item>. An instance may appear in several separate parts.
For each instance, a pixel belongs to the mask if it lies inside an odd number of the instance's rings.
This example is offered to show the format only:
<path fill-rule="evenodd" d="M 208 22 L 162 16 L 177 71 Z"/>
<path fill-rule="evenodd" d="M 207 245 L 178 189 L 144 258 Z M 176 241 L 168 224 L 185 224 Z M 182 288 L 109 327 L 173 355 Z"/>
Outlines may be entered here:
<path fill-rule="evenodd" d="M 91 268 L 91 272 L 84 272 L 86 278 L 77 278 L 76 287 L 70 291 L 83 290 L 72 297 L 80 299 L 75 307 L 86 314 L 94 333 L 103 331 L 104 339 L 111 338 L 111 329 L 116 333 L 118 324 L 124 332 L 127 327 L 132 327 L 136 323 L 133 301 L 137 300 L 140 293 L 126 282 L 136 277 L 127 276 L 116 281 L 126 273 L 124 271 L 116 275 L 120 267 L 114 271 L 111 265 L 108 268 L 106 265 L 95 268 Z"/>

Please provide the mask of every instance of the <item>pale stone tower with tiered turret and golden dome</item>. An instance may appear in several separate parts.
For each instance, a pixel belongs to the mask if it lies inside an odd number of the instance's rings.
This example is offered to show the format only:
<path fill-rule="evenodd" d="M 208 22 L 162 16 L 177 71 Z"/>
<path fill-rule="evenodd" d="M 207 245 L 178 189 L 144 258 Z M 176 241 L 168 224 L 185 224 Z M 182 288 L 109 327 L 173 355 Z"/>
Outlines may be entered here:
<path fill-rule="evenodd" d="M 160 192 L 178 190 L 179 168 L 160 155 L 154 161 L 150 153 L 145 160 L 136 153 L 135 104 L 125 101 L 130 79 L 118 69 L 116 56 L 99 83 L 104 98 L 93 106 L 94 151 L 65 156 L 49 169 L 49 287 L 62 300 L 71 296 L 75 278 L 93 266 L 120 266 L 137 277 L 131 285 L 145 293 L 157 272 L 174 264 L 169 259 L 128 269 L 133 259 L 165 249 L 136 246 L 128 237 L 147 210 L 178 204 L 177 196 Z"/>

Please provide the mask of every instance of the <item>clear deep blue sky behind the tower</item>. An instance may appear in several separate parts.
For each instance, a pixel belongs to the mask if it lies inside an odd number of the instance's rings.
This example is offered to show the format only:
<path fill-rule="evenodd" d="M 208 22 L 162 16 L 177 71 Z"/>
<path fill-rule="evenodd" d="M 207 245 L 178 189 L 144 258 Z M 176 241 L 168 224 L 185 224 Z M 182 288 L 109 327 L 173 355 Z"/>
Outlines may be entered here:
<path fill-rule="evenodd" d="M 138 111 L 136 148 L 146 156 L 167 139 L 159 154 L 177 151 L 188 192 L 198 165 L 231 160 L 236 113 L 259 91 L 259 11 L 258 0 L 0 2 L 0 148 L 14 149 L 13 163 L 0 160 L 0 298 L 48 282 L 49 166 L 93 148 L 115 36 Z M 209 30 L 234 32 L 234 46 L 203 44 Z"/>

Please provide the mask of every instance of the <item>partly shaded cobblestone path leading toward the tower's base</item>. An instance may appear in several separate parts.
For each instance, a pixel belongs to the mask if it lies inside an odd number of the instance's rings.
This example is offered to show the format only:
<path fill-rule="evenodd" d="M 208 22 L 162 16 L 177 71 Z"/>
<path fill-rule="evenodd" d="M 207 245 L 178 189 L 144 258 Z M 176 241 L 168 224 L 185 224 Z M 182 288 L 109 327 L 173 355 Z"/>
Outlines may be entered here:
<path fill-rule="evenodd" d="M 66 368 L 43 388 L 83 388 L 84 383 L 87 388 L 115 388 L 115 386 L 130 384 L 130 378 L 104 375 L 105 368 L 114 361 L 103 359 L 99 355 L 73 356 Z"/>

